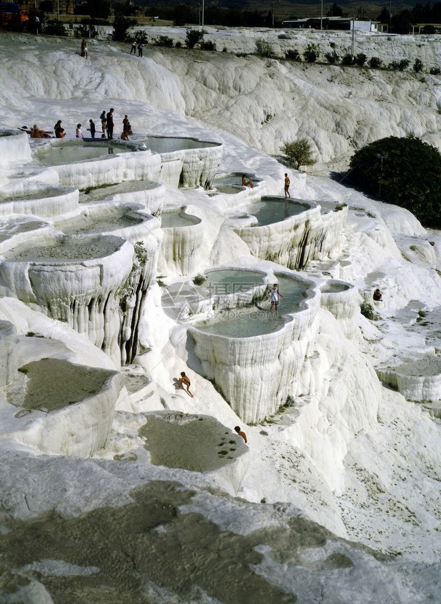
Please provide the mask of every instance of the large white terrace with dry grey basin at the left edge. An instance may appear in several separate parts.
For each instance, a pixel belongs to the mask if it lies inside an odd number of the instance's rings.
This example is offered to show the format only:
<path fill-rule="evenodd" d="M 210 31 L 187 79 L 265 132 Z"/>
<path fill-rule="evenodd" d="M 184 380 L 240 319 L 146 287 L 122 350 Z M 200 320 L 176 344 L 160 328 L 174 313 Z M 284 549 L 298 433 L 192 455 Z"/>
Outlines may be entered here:
<path fill-rule="evenodd" d="M 119 364 L 119 291 L 132 266 L 133 245 L 120 237 L 52 236 L 4 252 L 0 294 L 66 321 Z"/>

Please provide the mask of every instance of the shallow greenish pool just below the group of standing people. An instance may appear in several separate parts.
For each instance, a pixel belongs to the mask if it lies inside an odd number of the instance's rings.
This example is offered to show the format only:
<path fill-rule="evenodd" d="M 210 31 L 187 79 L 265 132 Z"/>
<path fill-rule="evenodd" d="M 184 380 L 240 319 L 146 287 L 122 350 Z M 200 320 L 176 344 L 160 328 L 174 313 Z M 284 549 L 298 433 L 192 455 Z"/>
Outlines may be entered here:
<path fill-rule="evenodd" d="M 54 145 L 48 151 L 36 153 L 34 158 L 40 165 L 63 165 L 83 161 L 84 159 L 94 159 L 101 155 L 115 155 L 115 153 L 127 153 L 133 150 L 133 147 L 109 145 L 107 143 Z"/>

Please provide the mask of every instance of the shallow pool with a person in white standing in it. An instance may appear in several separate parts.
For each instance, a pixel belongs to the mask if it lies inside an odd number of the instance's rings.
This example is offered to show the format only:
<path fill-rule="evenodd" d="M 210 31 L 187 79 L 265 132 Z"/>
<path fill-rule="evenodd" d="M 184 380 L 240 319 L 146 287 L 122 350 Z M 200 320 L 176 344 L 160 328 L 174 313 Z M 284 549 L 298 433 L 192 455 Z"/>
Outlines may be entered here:
<path fill-rule="evenodd" d="M 296 312 L 300 301 L 305 298 L 307 285 L 290 277 L 277 275 L 279 291 L 285 297 L 279 301 L 278 313 L 270 312 L 269 295 L 253 306 L 214 312 L 206 324 L 196 324 L 201 332 L 229 338 L 250 338 L 276 331 L 283 321 L 283 315 Z"/>

